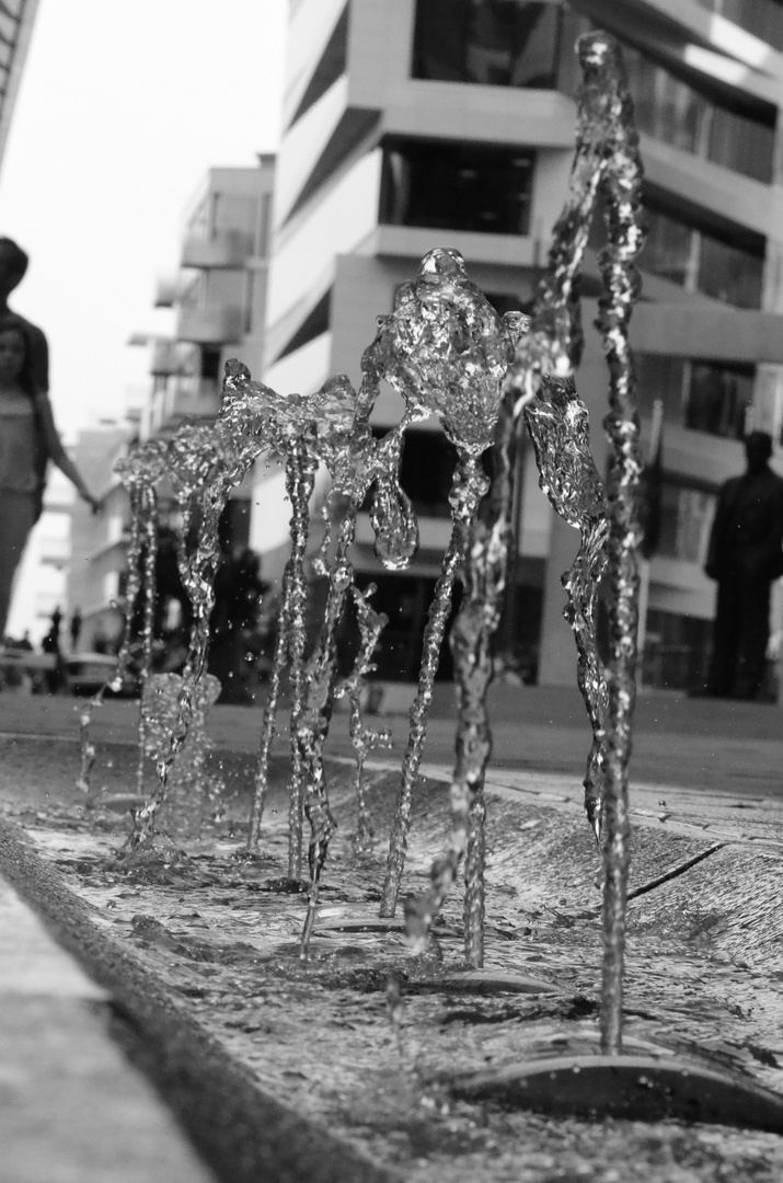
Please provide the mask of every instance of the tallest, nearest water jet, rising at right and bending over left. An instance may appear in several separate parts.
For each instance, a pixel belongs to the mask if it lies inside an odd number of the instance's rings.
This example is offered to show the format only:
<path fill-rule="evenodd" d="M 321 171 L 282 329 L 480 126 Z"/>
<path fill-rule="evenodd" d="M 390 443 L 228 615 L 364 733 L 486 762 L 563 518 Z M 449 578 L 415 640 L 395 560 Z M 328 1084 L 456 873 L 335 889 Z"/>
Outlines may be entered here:
<path fill-rule="evenodd" d="M 598 259 L 604 290 L 598 299 L 596 323 L 609 366 L 609 414 L 604 428 L 610 442 L 606 543 L 610 586 L 610 659 L 602 770 L 604 955 L 601 1047 L 603 1052 L 614 1054 L 620 1052 L 622 1041 L 628 762 L 639 615 L 638 499 L 641 460 L 628 323 L 639 297 L 640 280 L 634 260 L 643 245 L 645 228 L 639 136 L 633 124 L 633 105 L 620 50 L 613 38 L 598 32 L 580 38 L 577 54 L 583 85 L 578 95 L 577 143 L 569 196 L 555 226 L 549 267 L 536 303 L 531 331 L 517 348 L 509 387 L 516 393 L 522 409 L 536 397 L 544 376 L 569 379 L 578 363 L 582 331 L 575 283 L 596 199 L 601 196 L 609 245 Z M 587 565 L 593 565 L 594 570 L 601 563 L 598 549 L 594 531 L 588 547 L 590 557 L 585 555 Z M 589 629 L 583 632 L 582 638 L 588 633 Z"/>

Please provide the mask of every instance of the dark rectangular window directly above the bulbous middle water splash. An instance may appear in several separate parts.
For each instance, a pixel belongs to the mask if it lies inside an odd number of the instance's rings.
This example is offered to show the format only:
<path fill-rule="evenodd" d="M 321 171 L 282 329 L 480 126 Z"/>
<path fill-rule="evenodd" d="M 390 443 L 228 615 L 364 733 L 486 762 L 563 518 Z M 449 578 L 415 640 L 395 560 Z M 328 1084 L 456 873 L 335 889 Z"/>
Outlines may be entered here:
<path fill-rule="evenodd" d="M 526 234 L 535 154 L 429 140 L 383 148 L 381 222 Z"/>

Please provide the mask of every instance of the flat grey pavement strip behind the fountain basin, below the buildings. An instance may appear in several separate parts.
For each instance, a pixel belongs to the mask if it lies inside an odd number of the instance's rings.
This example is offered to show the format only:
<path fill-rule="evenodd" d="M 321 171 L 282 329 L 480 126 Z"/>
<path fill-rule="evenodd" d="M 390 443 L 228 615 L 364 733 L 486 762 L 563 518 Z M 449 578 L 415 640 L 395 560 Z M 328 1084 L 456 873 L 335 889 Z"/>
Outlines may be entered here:
<path fill-rule="evenodd" d="M 402 758 L 407 709 L 415 687 L 395 691 L 399 713 L 368 719 L 392 730 L 390 758 Z M 84 699 L 0 694 L 0 735 L 25 735 L 77 742 L 78 711 Z M 454 692 L 438 684 L 427 729 L 425 759 L 451 768 L 454 758 Z M 348 716 L 335 712 L 326 752 L 350 755 Z M 258 749 L 260 707 L 218 706 L 209 733 L 218 749 L 253 754 Z M 137 742 L 138 711 L 129 700 L 109 699 L 95 711 L 91 735 L 101 743 Z M 493 755 L 490 775 L 564 776 L 581 795 L 590 729 L 575 687 L 492 686 L 490 720 Z M 279 715 L 285 726 L 285 712 Z M 280 741 L 282 742 L 282 741 Z M 686 698 L 677 692 L 641 691 L 635 713 L 630 791 L 641 786 L 687 789 L 692 804 L 717 796 L 725 809 L 740 803 L 772 809 L 783 803 L 783 706 Z M 667 794 L 662 796 L 668 800 Z M 731 800 L 730 800 L 731 799 Z M 765 804 L 766 803 L 766 804 Z M 732 816 L 732 814 L 729 814 Z"/>

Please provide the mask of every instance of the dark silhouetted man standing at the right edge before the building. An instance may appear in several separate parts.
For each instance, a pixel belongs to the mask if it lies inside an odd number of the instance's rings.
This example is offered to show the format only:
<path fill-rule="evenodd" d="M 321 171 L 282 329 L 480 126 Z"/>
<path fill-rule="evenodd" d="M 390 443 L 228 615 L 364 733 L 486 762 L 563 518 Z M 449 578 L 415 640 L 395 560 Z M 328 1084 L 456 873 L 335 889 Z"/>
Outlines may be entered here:
<path fill-rule="evenodd" d="M 745 439 L 748 468 L 720 487 L 705 571 L 718 583 L 707 693 L 758 698 L 769 641 L 770 588 L 783 575 L 783 479 L 772 438 Z"/>

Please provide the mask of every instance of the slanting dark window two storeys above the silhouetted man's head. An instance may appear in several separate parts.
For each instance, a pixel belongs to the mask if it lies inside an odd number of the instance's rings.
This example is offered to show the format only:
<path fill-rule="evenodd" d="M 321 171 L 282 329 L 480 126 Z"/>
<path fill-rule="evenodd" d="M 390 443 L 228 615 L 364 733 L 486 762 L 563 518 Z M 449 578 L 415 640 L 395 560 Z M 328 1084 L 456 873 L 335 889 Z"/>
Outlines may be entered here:
<path fill-rule="evenodd" d="M 725 234 L 697 227 L 646 200 L 642 271 L 737 308 L 761 308 L 764 239 L 742 227 Z M 732 239 L 733 241 L 731 241 Z"/>

